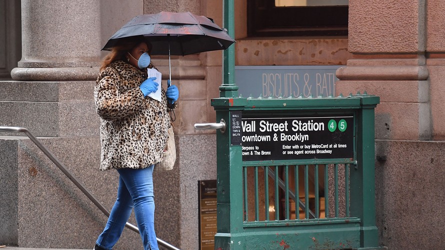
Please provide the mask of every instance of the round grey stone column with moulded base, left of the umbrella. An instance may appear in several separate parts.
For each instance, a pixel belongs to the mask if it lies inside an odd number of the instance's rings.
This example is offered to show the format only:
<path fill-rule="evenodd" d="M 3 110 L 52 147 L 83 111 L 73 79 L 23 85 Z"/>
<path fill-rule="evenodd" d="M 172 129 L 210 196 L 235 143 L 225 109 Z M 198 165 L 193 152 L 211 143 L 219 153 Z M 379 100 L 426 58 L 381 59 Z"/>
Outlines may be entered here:
<path fill-rule="evenodd" d="M 99 0 L 22 0 L 20 81 L 94 80 L 100 59 Z"/>

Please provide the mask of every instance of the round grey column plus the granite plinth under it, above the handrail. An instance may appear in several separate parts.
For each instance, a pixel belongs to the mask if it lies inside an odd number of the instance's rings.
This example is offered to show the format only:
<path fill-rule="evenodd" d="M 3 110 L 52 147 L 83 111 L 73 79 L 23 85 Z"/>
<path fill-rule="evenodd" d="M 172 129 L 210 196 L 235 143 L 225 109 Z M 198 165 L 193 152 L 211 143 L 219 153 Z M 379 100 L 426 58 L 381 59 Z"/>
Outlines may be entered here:
<path fill-rule="evenodd" d="M 97 136 L 100 0 L 22 0 L 21 19 L 22 57 L 14 81 L 0 83 L 1 125 L 36 136 Z"/>

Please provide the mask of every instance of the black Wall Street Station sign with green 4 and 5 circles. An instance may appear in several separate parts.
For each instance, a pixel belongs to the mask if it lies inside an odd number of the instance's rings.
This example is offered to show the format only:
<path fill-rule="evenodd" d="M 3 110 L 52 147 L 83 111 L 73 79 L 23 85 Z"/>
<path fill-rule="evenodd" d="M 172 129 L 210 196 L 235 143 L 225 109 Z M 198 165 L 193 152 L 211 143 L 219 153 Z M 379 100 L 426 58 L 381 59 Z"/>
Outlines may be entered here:
<path fill-rule="evenodd" d="M 353 115 L 242 118 L 242 160 L 353 158 Z"/>

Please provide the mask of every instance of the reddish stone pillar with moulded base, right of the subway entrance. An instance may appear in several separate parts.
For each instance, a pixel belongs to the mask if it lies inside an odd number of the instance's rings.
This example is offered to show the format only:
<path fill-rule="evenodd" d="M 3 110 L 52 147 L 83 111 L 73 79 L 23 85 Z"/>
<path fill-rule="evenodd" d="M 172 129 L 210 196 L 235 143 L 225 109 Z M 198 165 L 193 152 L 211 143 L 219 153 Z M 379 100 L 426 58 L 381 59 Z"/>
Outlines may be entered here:
<path fill-rule="evenodd" d="M 349 2 L 348 50 L 335 93 L 380 96 L 376 139 L 430 139 L 424 0 Z"/>

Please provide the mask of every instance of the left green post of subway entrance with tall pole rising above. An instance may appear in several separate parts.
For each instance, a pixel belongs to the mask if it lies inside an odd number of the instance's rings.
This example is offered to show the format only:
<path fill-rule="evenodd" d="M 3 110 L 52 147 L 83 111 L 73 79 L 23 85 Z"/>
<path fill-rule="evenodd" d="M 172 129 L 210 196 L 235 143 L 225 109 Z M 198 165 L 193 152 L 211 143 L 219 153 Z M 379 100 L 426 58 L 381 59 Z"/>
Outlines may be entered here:
<path fill-rule="evenodd" d="M 223 0 L 223 24 L 230 37 L 234 37 L 234 2 Z M 224 133 L 216 132 L 217 154 L 217 188 L 216 188 L 216 235 L 214 249 L 233 250 L 234 244 L 242 231 L 242 152 L 241 145 L 230 144 L 230 111 L 242 110 L 245 98 L 238 97 L 238 86 L 235 78 L 235 49 L 228 47 L 223 51 L 222 84 L 219 86 L 219 97 L 212 100 L 216 111 L 216 120 L 224 119 L 227 128 Z M 231 189 L 233 188 L 233 189 Z M 237 236 L 238 235 L 238 236 Z"/>

